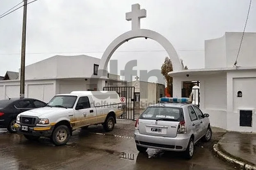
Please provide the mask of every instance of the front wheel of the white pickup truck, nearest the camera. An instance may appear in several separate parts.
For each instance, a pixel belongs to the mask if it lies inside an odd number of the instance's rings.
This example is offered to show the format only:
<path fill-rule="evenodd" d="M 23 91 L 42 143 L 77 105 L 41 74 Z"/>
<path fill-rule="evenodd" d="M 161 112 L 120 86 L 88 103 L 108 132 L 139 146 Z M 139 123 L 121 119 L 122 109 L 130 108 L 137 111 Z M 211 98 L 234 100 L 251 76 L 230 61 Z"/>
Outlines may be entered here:
<path fill-rule="evenodd" d="M 66 125 L 57 126 L 52 135 L 52 141 L 56 146 L 65 145 L 69 141 L 70 130 Z"/>

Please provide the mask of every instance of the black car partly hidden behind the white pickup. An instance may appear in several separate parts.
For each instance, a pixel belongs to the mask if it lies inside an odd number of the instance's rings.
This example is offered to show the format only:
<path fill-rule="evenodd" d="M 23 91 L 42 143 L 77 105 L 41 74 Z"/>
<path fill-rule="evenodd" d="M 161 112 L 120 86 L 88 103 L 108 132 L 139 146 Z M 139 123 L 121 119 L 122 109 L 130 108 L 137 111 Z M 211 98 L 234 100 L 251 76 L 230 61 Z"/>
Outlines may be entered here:
<path fill-rule="evenodd" d="M 0 100 L 0 128 L 7 128 L 11 133 L 16 132 L 14 124 L 21 112 L 45 107 L 46 103 L 34 98 L 11 98 Z"/>

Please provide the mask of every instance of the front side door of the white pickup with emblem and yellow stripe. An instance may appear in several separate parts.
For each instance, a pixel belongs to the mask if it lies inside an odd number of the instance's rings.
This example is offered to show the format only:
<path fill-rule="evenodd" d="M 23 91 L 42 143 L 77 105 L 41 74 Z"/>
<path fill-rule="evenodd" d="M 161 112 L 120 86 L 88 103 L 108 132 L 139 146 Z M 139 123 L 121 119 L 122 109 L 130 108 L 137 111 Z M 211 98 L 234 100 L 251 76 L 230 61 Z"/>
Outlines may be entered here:
<path fill-rule="evenodd" d="M 96 123 L 96 109 L 91 107 L 89 98 L 82 96 L 78 99 L 75 106 L 75 127 L 79 128 L 85 125 Z"/>

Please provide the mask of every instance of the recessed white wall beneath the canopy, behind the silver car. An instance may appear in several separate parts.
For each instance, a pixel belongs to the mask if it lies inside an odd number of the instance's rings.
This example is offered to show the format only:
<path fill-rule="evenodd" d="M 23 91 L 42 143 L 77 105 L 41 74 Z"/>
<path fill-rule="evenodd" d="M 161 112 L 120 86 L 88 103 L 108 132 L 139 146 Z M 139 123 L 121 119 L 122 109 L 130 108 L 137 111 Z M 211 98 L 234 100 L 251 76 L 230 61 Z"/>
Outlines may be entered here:
<path fill-rule="evenodd" d="M 199 107 L 210 114 L 212 126 L 226 128 L 226 74 L 212 74 L 176 78 L 177 82 L 200 81 Z M 179 96 L 177 96 L 179 97 Z"/>

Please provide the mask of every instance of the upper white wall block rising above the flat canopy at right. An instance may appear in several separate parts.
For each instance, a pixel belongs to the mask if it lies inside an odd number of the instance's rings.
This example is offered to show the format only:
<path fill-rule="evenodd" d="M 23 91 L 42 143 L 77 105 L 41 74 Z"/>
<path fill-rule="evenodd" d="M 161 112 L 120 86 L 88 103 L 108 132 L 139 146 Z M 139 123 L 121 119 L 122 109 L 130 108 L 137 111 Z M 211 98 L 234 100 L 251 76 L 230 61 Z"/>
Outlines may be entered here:
<path fill-rule="evenodd" d="M 242 32 L 226 32 L 221 38 L 205 41 L 205 68 L 233 67 Z M 238 66 L 255 67 L 256 33 L 245 33 Z"/>

